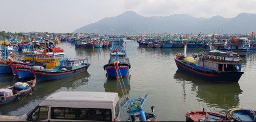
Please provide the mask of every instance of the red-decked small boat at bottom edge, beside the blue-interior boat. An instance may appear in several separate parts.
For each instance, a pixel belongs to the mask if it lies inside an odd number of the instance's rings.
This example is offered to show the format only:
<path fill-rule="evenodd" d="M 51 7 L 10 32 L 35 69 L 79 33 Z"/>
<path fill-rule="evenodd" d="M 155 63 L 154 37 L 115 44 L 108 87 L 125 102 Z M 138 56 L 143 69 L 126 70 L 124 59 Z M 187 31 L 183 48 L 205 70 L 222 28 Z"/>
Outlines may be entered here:
<path fill-rule="evenodd" d="M 204 111 L 190 111 L 187 112 L 186 121 L 230 121 L 226 115 L 215 113 L 215 112 L 206 112 Z"/>

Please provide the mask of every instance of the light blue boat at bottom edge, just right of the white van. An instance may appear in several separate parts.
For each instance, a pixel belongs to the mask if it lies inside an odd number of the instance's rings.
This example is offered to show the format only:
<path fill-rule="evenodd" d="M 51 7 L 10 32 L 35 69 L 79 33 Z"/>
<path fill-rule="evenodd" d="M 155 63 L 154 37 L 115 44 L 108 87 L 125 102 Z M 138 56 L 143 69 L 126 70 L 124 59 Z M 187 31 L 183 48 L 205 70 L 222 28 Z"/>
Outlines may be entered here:
<path fill-rule="evenodd" d="M 144 111 L 145 101 L 147 99 L 147 94 L 145 97 L 139 97 L 136 99 L 129 99 L 128 97 L 121 103 L 122 108 L 127 109 L 129 118 L 126 121 L 157 121 L 157 116 L 154 114 L 154 107 L 151 106 L 152 113 L 147 113 Z"/>

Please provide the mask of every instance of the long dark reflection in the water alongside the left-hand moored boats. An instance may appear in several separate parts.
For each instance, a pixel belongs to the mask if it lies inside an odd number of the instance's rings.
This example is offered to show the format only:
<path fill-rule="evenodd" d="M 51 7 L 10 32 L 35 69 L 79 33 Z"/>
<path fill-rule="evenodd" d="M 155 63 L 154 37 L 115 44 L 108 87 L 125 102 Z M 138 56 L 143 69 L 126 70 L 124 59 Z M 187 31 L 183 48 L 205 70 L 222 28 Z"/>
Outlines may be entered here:
<path fill-rule="evenodd" d="M 90 74 L 87 71 L 75 74 L 70 77 L 66 77 L 59 80 L 53 80 L 49 82 L 37 82 L 36 91 L 30 93 L 26 98 L 18 102 L 12 102 L 0 107 L 0 114 L 8 114 L 10 111 L 11 115 L 20 115 L 20 113 L 26 113 L 28 110 L 35 107 L 42 100 L 49 95 L 57 92 L 57 90 L 68 90 L 86 85 L 88 83 L 88 77 Z M 22 108 L 22 109 L 20 109 Z"/>

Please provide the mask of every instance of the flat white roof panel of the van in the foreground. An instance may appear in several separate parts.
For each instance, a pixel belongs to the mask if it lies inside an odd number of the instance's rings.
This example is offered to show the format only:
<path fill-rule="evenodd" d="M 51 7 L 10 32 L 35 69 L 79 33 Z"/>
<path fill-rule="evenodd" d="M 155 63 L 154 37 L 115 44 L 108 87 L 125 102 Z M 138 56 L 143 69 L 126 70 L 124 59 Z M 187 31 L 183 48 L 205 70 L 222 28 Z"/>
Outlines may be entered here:
<path fill-rule="evenodd" d="M 58 92 L 50 95 L 45 101 L 62 102 L 111 102 L 118 98 L 117 93 L 106 92 Z"/>

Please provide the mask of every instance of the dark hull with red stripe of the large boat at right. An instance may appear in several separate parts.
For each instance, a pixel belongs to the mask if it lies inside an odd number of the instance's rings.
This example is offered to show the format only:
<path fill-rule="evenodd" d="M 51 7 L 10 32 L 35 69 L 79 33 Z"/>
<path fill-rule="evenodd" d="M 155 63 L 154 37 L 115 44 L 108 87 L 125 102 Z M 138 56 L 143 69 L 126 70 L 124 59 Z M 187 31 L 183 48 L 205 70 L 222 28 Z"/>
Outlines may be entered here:
<path fill-rule="evenodd" d="M 178 70 L 212 82 L 238 82 L 244 72 L 215 72 L 197 69 L 175 58 Z"/>

